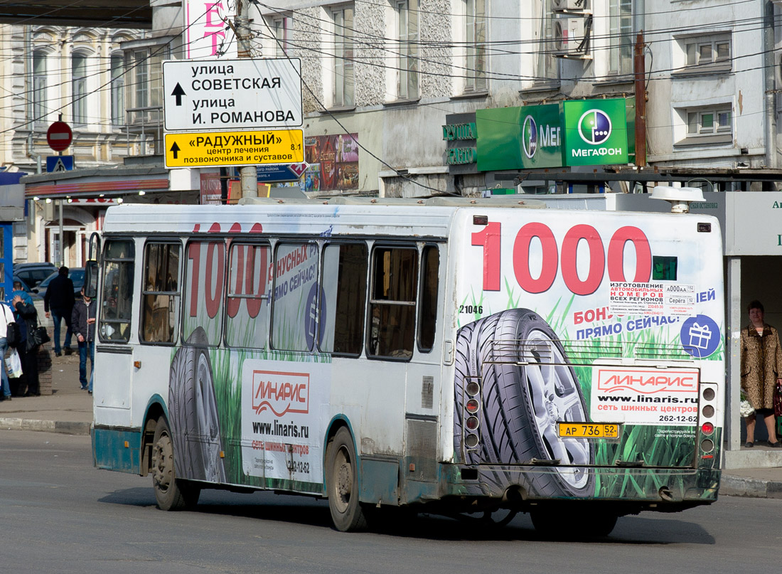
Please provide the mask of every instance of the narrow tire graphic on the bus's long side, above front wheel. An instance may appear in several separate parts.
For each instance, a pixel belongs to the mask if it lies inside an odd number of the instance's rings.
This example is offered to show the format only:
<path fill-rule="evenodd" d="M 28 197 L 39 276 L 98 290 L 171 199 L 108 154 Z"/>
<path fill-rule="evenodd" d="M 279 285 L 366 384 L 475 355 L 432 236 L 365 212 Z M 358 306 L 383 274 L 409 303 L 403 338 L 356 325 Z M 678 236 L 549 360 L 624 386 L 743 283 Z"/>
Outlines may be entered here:
<path fill-rule="evenodd" d="M 168 412 L 178 476 L 225 482 L 206 332 L 195 328 L 171 361 Z"/>

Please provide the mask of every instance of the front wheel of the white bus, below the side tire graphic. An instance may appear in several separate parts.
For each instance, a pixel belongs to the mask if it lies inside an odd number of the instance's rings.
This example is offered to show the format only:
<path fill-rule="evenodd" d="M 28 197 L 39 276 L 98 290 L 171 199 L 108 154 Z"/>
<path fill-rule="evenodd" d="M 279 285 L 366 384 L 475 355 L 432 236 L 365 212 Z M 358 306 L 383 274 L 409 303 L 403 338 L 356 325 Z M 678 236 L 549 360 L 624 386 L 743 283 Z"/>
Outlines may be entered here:
<path fill-rule="evenodd" d="M 177 479 L 174 468 L 174 443 L 166 419 L 160 417 L 152 440 L 152 487 L 160 510 L 181 510 L 198 504 L 201 489 Z"/>

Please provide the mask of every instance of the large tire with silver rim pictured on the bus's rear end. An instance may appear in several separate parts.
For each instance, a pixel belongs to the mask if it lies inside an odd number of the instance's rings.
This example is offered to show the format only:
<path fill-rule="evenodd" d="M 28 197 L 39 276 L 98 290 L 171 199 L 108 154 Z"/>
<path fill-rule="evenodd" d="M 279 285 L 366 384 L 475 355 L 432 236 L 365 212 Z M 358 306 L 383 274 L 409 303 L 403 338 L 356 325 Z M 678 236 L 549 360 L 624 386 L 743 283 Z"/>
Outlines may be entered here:
<path fill-rule="evenodd" d="M 467 383 L 479 382 L 479 440 L 462 444 Z M 530 465 L 519 469 L 533 496 L 595 493 L 594 446 L 559 436 L 559 422 L 589 422 L 578 378 L 556 333 L 529 309 L 510 309 L 459 329 L 454 447 L 468 465 Z M 552 462 L 551 465 L 541 463 Z M 520 483 L 519 472 L 493 468 L 482 478 L 493 490 Z"/>

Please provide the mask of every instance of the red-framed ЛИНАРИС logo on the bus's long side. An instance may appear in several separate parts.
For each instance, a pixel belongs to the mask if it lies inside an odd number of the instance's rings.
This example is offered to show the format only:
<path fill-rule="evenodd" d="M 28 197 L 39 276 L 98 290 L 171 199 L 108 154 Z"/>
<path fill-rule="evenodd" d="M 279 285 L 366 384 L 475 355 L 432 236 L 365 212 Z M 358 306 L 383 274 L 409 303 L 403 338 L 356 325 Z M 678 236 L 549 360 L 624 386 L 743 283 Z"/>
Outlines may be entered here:
<path fill-rule="evenodd" d="M 310 374 L 253 370 L 253 411 L 310 412 Z"/>

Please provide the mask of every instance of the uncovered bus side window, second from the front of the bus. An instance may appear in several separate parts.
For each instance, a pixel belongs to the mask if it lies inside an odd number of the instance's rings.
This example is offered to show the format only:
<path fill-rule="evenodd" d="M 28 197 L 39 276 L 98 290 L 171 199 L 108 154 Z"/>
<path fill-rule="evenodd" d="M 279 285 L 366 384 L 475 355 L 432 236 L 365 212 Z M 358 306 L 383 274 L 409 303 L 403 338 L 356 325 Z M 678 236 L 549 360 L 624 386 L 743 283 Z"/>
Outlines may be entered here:
<path fill-rule="evenodd" d="M 142 328 L 145 343 L 175 343 L 179 325 L 179 243 L 147 243 L 144 257 Z"/>

